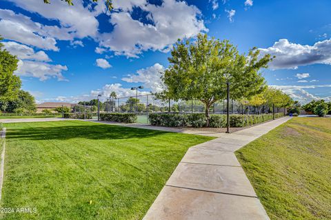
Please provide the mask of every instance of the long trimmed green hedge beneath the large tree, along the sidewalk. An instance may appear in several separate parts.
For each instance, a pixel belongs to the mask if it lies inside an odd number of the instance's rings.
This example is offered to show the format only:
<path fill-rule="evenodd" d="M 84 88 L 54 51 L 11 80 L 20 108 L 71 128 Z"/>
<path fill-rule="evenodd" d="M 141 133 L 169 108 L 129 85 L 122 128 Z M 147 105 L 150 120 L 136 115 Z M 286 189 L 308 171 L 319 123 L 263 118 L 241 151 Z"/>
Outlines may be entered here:
<path fill-rule="evenodd" d="M 283 117 L 283 113 L 276 113 L 275 118 Z M 205 114 L 149 114 L 149 121 L 153 126 L 166 127 L 194 127 L 201 128 L 207 124 Z M 272 114 L 230 114 L 230 127 L 241 128 L 256 123 L 272 120 Z M 226 127 L 225 114 L 211 114 L 210 128 Z"/>

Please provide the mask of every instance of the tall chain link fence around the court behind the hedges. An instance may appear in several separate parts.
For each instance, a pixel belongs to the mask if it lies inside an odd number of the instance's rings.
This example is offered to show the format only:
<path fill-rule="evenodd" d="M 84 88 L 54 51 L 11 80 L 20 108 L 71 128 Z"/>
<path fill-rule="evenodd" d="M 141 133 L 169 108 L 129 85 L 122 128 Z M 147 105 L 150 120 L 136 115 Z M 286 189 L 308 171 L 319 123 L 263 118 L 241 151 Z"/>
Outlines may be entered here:
<path fill-rule="evenodd" d="M 236 100 L 230 99 L 230 114 L 263 114 L 270 112 L 269 106 L 248 106 Z M 210 106 L 210 114 L 226 114 L 227 101 L 219 100 Z M 102 103 L 101 112 L 136 113 L 138 123 L 149 123 L 150 113 L 179 113 L 192 114 L 205 112 L 205 105 L 199 100 L 163 101 L 157 99 L 154 94 L 143 94 L 132 97 L 117 97 L 107 99 Z M 281 109 L 276 108 L 276 112 Z"/>

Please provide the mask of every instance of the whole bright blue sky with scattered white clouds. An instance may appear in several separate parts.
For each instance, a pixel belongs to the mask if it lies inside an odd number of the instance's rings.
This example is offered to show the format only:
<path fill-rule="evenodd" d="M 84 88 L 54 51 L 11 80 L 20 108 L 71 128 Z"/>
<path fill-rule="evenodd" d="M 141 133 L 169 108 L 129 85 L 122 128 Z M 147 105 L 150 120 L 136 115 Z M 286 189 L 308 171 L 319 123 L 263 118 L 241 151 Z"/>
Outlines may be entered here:
<path fill-rule="evenodd" d="M 114 0 L 111 13 L 104 0 L 73 2 L 0 3 L 0 34 L 38 102 L 158 91 L 172 44 L 199 32 L 276 55 L 263 75 L 294 99 L 331 99 L 331 1 Z"/>

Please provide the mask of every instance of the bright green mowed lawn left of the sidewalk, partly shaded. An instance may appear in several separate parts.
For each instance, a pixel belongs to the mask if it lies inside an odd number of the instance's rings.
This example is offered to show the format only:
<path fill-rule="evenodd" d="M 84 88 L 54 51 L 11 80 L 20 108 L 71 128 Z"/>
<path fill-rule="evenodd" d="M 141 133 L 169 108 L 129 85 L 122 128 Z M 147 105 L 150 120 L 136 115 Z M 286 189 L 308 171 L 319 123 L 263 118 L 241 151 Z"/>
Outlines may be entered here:
<path fill-rule="evenodd" d="M 10 123 L 4 219 L 141 219 L 190 146 L 212 137 L 86 121 Z"/>

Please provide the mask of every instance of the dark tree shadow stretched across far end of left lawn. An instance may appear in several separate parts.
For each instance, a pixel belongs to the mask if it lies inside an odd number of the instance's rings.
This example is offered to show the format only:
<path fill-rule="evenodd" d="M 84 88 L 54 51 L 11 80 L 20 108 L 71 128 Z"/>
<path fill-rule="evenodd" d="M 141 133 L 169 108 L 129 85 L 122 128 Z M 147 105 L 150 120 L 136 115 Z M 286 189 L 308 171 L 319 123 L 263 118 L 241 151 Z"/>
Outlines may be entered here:
<path fill-rule="evenodd" d="M 8 129 L 6 139 L 25 140 L 66 140 L 66 139 L 132 139 L 147 138 L 168 134 L 158 130 L 128 128 L 109 125 L 86 126 L 54 126 L 54 127 L 28 127 L 21 129 Z"/>

